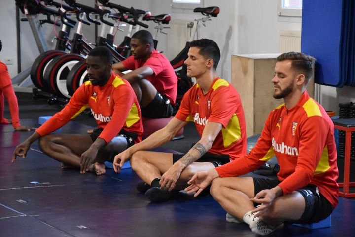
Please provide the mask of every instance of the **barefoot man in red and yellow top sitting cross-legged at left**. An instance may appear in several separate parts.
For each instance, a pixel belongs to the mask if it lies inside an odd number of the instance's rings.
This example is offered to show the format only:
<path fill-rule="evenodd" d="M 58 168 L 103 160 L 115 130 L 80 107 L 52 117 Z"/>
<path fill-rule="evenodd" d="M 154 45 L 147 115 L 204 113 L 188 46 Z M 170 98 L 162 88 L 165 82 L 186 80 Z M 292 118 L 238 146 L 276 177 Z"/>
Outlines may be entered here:
<path fill-rule="evenodd" d="M 89 81 L 75 91 L 69 103 L 18 145 L 17 156 L 25 158 L 39 139 L 40 149 L 62 167 L 80 167 L 80 172 L 105 173 L 104 162 L 142 140 L 141 109 L 131 85 L 111 71 L 111 52 L 103 46 L 91 50 L 86 59 Z M 90 107 L 98 128 L 90 135 L 49 134 Z M 47 135 L 49 134 L 49 135 Z M 111 160 L 112 161 L 112 160 Z"/>

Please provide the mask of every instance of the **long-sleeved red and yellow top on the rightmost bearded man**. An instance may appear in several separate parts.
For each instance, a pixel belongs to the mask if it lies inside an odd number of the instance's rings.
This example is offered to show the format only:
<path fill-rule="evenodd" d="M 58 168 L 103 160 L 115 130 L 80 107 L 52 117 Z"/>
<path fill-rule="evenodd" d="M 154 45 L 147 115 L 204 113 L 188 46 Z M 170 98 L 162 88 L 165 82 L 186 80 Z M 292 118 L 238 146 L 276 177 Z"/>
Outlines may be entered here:
<path fill-rule="evenodd" d="M 334 124 L 307 91 L 291 109 L 283 104 L 269 114 L 259 140 L 248 155 L 216 170 L 220 177 L 246 174 L 275 155 L 284 195 L 313 184 L 333 207 L 338 204 Z"/>

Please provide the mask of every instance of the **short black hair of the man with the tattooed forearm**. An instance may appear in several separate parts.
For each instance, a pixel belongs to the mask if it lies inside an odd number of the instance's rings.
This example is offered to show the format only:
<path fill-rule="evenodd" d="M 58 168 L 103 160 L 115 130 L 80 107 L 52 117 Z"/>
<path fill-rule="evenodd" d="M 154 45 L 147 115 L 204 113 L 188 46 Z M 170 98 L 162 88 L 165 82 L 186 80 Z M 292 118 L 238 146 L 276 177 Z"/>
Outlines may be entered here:
<path fill-rule="evenodd" d="M 200 39 L 191 41 L 189 43 L 189 46 L 199 48 L 199 54 L 201 54 L 205 58 L 211 58 L 213 60 L 213 69 L 217 69 L 218 62 L 220 59 L 220 51 L 216 42 L 209 39 Z"/>

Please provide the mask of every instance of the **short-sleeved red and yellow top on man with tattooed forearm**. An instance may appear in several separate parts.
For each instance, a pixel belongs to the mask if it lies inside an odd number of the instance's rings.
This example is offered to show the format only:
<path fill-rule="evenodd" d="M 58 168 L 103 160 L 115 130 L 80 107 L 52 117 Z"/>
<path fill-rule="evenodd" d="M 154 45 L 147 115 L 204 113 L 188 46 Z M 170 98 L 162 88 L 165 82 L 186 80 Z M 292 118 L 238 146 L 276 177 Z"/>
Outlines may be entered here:
<path fill-rule="evenodd" d="M 234 160 L 247 152 L 243 106 L 237 91 L 224 79 L 214 79 L 205 95 L 198 84 L 191 87 L 183 96 L 175 118 L 194 122 L 200 136 L 207 122 L 222 124 L 209 153 L 228 154 Z"/>

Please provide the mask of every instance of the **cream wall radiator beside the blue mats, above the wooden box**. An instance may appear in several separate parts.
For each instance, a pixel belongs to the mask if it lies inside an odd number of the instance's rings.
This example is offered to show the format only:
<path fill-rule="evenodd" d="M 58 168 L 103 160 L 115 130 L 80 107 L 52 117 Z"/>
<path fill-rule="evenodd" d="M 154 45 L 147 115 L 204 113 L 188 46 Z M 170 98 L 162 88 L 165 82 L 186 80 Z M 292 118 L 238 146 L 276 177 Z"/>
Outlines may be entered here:
<path fill-rule="evenodd" d="M 301 52 L 301 32 L 300 31 L 280 31 L 279 52 Z"/>

